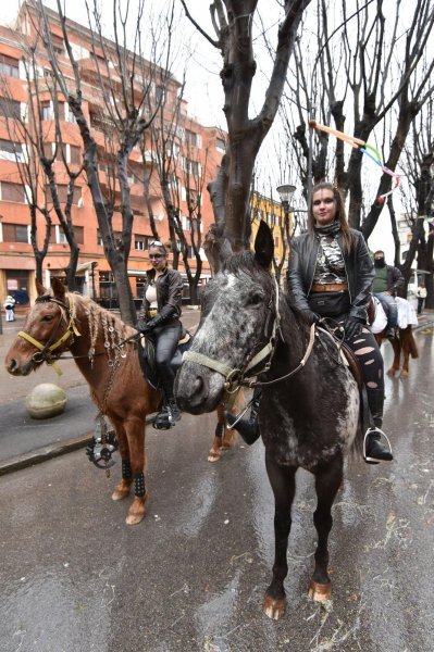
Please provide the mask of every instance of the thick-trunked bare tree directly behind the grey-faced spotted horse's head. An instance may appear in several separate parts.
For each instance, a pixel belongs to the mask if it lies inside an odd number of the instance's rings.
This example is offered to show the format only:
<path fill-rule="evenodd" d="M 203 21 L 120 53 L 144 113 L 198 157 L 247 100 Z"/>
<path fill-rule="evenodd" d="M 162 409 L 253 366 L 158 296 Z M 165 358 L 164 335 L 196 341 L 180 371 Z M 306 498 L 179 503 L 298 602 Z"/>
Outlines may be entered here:
<path fill-rule="evenodd" d="M 256 156 L 277 112 L 297 27 L 310 0 L 285 0 L 278 27 L 274 64 L 259 114 L 250 118 L 249 106 L 257 63 L 253 20 L 258 0 L 214 0 L 210 5 L 216 39 L 197 24 L 182 0 L 191 23 L 222 54 L 224 113 L 228 142 L 218 178 L 210 184 L 215 224 L 207 234 L 207 255 L 214 271 L 221 254 L 249 247 L 249 193 Z"/>

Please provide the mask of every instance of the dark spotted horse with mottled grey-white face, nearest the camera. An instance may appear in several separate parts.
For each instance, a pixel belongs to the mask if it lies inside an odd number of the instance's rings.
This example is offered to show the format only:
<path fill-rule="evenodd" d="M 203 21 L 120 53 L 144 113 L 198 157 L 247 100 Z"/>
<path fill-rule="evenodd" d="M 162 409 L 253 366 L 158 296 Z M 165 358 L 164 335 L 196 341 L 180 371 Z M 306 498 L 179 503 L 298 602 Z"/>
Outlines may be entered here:
<path fill-rule="evenodd" d="M 272 256 L 273 238 L 262 222 L 255 255 L 231 256 L 208 284 L 201 321 L 177 374 L 175 393 L 183 410 L 210 412 L 224 401 L 227 387 L 234 389 L 250 375 L 246 368 L 252 361 L 264 356 L 263 362 L 270 362 L 270 368 L 259 375 L 259 426 L 275 500 L 275 561 L 263 611 L 277 619 L 286 606 L 286 550 L 297 468 L 315 478 L 318 549 L 309 594 L 323 601 L 331 595 L 331 509 L 343 480 L 344 454 L 356 443 L 360 447 L 362 430 L 359 390 L 351 373 L 339 362 L 331 338 L 317 337 L 314 327 L 278 296 L 269 272 Z M 264 348 L 268 344 L 271 350 Z M 251 375 L 259 371 L 253 365 Z"/>

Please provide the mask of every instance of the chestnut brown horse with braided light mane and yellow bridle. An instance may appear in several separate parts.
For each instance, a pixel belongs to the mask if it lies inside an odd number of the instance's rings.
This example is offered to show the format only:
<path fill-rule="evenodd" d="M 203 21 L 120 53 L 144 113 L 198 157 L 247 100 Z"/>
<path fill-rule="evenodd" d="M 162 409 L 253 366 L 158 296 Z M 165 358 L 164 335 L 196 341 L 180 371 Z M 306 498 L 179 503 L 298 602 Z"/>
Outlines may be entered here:
<path fill-rule="evenodd" d="M 146 381 L 134 341 L 122 342 L 137 331 L 119 317 L 100 308 L 91 299 L 65 291 L 64 285 L 52 279 L 49 292 L 37 284 L 38 299 L 12 343 L 5 366 L 14 376 L 27 376 L 44 362 L 55 360 L 70 351 L 90 386 L 90 396 L 99 411 L 113 425 L 122 459 L 122 479 L 112 493 L 122 500 L 131 492 L 135 497 L 126 517 L 136 525 L 145 516 L 148 492 L 145 487 L 145 422 L 156 412 L 162 394 Z M 233 443 L 233 431 L 224 428 L 222 408 L 212 461 L 220 457 L 222 448 Z"/>

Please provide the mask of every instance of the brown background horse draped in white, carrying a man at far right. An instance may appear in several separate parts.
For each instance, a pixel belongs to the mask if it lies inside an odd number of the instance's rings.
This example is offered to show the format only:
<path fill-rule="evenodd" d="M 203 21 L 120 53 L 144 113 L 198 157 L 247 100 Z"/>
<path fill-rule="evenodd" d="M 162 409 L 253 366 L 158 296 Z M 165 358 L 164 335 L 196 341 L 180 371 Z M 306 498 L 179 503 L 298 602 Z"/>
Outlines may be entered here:
<path fill-rule="evenodd" d="M 405 299 L 397 299 L 400 304 L 408 303 Z M 399 306 L 400 308 L 400 306 Z M 414 319 L 417 323 L 417 317 L 414 313 Z M 372 331 L 375 336 L 379 347 L 381 347 L 382 342 L 386 340 L 386 331 L 387 331 L 387 317 L 385 315 L 384 309 L 380 303 L 379 299 L 374 300 L 374 317 L 372 324 Z M 416 360 L 419 358 L 418 344 L 416 343 L 412 325 L 409 324 L 406 328 L 397 328 L 395 331 L 395 337 L 388 340 L 394 350 L 394 360 L 390 368 L 387 371 L 387 375 L 395 378 L 399 376 L 400 378 L 407 378 L 409 374 L 409 362 L 410 358 Z M 402 360 L 402 367 L 401 367 Z"/>

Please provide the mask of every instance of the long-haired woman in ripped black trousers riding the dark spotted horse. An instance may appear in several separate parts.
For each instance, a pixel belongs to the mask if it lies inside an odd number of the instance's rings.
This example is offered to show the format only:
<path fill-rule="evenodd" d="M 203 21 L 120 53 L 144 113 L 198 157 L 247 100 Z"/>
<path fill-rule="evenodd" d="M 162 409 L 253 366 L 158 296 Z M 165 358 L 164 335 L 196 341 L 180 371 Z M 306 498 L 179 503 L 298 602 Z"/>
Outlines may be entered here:
<path fill-rule="evenodd" d="M 384 432 L 384 366 L 373 334 L 367 325 L 373 264 L 360 231 L 348 226 L 340 192 L 332 184 L 318 184 L 309 206 L 308 231 L 290 244 L 287 284 L 292 305 L 309 324 L 330 317 L 343 327 L 344 339 L 360 362 L 374 427 L 365 437 L 368 463 L 390 461 L 390 451 L 381 440 Z M 332 322 L 332 324 L 333 324 Z M 249 419 L 235 428 L 247 443 L 258 437 L 257 413 L 260 392 Z M 227 416 L 230 423 L 235 418 Z"/>

